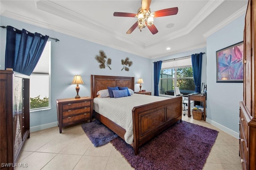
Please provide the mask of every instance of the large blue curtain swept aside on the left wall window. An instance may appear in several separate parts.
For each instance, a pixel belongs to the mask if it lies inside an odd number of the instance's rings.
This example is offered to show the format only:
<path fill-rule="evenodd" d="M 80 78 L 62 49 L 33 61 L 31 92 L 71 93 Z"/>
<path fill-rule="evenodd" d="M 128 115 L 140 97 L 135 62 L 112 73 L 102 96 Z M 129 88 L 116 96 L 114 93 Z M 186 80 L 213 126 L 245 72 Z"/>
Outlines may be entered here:
<path fill-rule="evenodd" d="M 30 76 L 38 63 L 49 36 L 7 26 L 5 68 Z"/>

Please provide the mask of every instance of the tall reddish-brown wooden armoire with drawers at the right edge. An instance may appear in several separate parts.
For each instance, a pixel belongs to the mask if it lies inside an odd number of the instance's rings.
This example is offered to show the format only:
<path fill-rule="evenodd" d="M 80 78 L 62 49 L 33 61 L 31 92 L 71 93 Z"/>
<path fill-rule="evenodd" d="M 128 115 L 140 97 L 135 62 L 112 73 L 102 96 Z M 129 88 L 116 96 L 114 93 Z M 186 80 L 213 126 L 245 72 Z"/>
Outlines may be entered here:
<path fill-rule="evenodd" d="M 254 37 L 255 36 L 255 37 Z M 244 25 L 244 99 L 240 102 L 239 154 L 243 170 L 256 170 L 256 1 L 249 0 Z"/>

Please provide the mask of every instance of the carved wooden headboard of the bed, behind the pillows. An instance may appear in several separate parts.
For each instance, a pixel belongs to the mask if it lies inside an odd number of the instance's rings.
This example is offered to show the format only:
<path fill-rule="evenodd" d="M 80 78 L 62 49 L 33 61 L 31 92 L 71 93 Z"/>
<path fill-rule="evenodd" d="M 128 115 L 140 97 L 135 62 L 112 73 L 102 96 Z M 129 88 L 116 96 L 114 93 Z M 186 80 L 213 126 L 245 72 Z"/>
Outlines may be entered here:
<path fill-rule="evenodd" d="M 128 87 L 134 91 L 134 77 L 91 75 L 91 97 L 96 98 L 99 90 L 108 87 Z"/>

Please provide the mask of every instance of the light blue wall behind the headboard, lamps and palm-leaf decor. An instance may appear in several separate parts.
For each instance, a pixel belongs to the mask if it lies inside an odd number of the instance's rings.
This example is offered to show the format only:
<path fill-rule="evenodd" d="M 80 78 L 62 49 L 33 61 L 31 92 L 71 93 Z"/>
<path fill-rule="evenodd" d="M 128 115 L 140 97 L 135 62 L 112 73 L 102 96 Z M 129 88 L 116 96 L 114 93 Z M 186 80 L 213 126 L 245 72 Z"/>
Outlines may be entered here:
<path fill-rule="evenodd" d="M 90 75 L 134 76 L 135 81 L 142 77 L 143 89 L 151 89 L 151 59 L 112 49 L 103 45 L 92 43 L 83 39 L 58 33 L 50 29 L 44 29 L 20 21 L 1 16 L 0 24 L 11 25 L 18 29 L 26 29 L 30 32 L 38 32 L 43 35 L 58 38 L 60 41 L 51 43 L 51 109 L 30 113 L 30 127 L 44 125 L 57 121 L 56 99 L 73 98 L 76 96 L 76 85 L 71 85 L 74 75 L 80 74 L 84 84 L 80 84 L 80 96 L 90 96 Z M 4 69 L 6 29 L 0 28 L 0 69 Z M 109 68 L 100 69 L 94 59 L 98 51 L 105 51 L 107 57 L 112 59 Z M 130 71 L 121 71 L 121 59 L 129 57 L 133 61 Z M 40 90 L 40 89 L 39 89 Z M 139 84 L 135 84 L 135 91 L 139 90 Z"/>

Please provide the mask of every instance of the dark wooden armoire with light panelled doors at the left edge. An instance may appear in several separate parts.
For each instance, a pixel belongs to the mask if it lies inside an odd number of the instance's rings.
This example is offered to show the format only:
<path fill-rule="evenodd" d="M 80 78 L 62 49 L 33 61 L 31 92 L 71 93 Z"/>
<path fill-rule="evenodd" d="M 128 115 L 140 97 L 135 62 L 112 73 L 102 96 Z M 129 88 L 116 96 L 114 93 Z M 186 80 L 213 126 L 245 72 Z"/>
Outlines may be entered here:
<path fill-rule="evenodd" d="M 0 70 L 0 169 L 13 170 L 30 137 L 30 77 Z"/>

